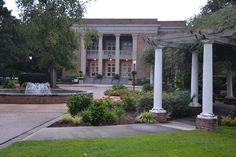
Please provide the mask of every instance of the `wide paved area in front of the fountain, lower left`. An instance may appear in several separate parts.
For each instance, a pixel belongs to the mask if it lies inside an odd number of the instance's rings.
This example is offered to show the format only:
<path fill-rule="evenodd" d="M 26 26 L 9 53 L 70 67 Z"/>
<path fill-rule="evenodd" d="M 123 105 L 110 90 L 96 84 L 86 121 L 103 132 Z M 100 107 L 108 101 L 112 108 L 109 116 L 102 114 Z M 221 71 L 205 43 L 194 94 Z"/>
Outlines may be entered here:
<path fill-rule="evenodd" d="M 0 148 L 47 127 L 66 111 L 66 104 L 0 104 Z"/>

